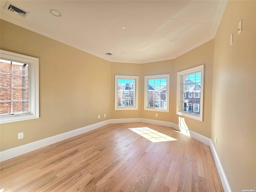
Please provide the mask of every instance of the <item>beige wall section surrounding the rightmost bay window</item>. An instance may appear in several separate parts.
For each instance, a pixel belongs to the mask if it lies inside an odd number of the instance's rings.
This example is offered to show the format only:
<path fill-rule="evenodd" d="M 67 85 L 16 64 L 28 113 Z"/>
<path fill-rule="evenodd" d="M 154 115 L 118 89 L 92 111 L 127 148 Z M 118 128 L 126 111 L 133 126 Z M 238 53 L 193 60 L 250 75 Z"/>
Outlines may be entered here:
<path fill-rule="evenodd" d="M 175 94 L 173 96 L 173 110 L 171 116 L 172 122 L 178 124 L 179 116 L 176 115 L 176 89 L 177 89 L 177 72 L 204 65 L 204 116 L 203 121 L 194 120 L 184 117 L 184 121 L 189 130 L 197 132 L 208 138 L 211 137 L 212 123 L 212 67 L 213 67 L 213 50 L 214 40 L 210 40 L 205 44 L 179 56 L 174 59 L 174 86 Z"/>

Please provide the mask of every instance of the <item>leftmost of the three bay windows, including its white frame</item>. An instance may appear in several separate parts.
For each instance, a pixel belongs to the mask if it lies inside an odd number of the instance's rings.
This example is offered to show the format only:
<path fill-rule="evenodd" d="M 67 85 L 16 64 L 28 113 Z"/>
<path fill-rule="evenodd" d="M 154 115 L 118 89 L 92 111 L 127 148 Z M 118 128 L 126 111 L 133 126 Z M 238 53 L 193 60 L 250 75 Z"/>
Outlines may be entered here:
<path fill-rule="evenodd" d="M 115 110 L 138 110 L 138 76 L 115 76 Z"/>

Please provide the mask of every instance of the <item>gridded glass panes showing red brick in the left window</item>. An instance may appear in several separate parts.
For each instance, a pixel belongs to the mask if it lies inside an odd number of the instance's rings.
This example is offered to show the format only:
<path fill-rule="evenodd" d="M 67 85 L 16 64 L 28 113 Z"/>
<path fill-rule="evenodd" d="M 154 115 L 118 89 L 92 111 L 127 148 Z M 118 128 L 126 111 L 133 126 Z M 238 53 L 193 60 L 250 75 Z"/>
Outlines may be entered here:
<path fill-rule="evenodd" d="M 0 61 L 0 114 L 28 112 L 28 65 Z"/>

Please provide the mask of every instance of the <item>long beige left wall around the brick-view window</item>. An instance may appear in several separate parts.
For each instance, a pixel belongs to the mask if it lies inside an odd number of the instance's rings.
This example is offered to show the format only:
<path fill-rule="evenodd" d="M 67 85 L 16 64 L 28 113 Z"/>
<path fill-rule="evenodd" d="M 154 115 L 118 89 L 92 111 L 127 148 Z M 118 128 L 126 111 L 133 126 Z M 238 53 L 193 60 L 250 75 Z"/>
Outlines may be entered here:
<path fill-rule="evenodd" d="M 40 118 L 1 124 L 1 151 L 110 119 L 110 62 L 4 20 L 0 32 L 0 48 L 39 58 L 40 74 Z"/>

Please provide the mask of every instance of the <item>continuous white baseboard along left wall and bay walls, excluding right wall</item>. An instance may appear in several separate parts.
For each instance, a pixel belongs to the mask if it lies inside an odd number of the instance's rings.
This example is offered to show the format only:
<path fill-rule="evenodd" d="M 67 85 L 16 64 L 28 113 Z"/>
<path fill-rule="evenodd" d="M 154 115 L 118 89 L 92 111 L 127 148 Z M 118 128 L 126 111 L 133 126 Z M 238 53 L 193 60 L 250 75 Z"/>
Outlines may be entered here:
<path fill-rule="evenodd" d="M 146 119 L 146 118 L 110 119 L 110 120 L 106 120 L 106 121 L 99 122 L 99 123 L 96 123 L 96 124 L 92 124 L 92 125 L 89 125 L 89 126 L 85 126 L 83 128 L 72 130 L 72 131 L 69 131 L 69 132 L 66 132 L 66 133 L 62 133 L 62 134 L 59 134 L 59 135 L 56 135 L 56 136 L 45 138 L 45 139 L 42 139 L 42 140 L 39 140 L 39 141 L 36 141 L 36 142 L 32 142 L 32 143 L 29 143 L 29 144 L 18 146 L 16 148 L 12 148 L 12 149 L 2 151 L 2 152 L 0 152 L 0 162 L 8 160 L 10 158 L 14 158 L 16 156 L 19 156 L 19 155 L 22 155 L 22 154 L 25 154 L 25 153 L 28 153 L 28 152 L 31 152 L 33 150 L 48 146 L 50 144 L 54 144 L 56 142 L 59 142 L 59 141 L 77 136 L 79 134 L 94 130 L 96 128 L 100 128 L 102 126 L 105 126 L 105 125 L 108 125 L 108 124 L 111 124 L 111 123 L 131 123 L 131 122 L 143 122 L 143 123 L 149 123 L 149 124 L 155 124 L 155 125 L 161 125 L 161 126 L 168 126 L 168 127 L 175 128 L 176 130 L 181 131 L 182 133 L 188 133 L 189 132 L 189 135 L 192 138 L 210 146 L 210 139 L 209 138 L 207 138 L 205 136 L 202 136 L 202 135 L 200 135 L 196 132 L 193 132 L 191 130 L 186 130 L 185 128 L 182 128 L 181 126 L 178 126 L 177 124 L 172 123 L 172 122 L 152 120 L 152 119 Z"/>

